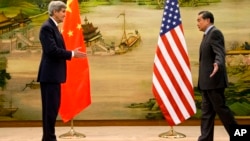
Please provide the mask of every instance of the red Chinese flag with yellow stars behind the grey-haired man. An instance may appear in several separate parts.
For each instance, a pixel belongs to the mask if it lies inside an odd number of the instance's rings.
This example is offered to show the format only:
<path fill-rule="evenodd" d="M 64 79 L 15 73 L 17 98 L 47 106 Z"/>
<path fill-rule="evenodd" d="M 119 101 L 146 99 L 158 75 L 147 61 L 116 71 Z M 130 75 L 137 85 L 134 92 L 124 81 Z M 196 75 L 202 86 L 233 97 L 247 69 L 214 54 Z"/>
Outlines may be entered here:
<path fill-rule="evenodd" d="M 62 35 L 67 50 L 81 47 L 86 52 L 81 27 L 78 0 L 68 0 Z M 59 114 L 64 122 L 73 119 L 91 103 L 89 65 L 87 58 L 72 58 L 67 61 L 67 80 L 62 84 Z"/>

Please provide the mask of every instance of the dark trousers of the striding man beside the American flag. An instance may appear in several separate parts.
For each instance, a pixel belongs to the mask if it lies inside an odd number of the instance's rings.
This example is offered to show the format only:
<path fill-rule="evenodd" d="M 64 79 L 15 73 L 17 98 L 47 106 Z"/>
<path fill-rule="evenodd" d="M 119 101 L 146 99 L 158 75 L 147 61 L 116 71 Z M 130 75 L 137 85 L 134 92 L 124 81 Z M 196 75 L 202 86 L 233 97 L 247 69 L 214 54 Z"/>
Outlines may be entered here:
<path fill-rule="evenodd" d="M 226 106 L 224 91 L 225 88 L 201 91 L 201 136 L 198 141 L 213 141 L 216 114 L 228 134 L 230 133 L 229 126 L 237 124 L 231 110 Z"/>

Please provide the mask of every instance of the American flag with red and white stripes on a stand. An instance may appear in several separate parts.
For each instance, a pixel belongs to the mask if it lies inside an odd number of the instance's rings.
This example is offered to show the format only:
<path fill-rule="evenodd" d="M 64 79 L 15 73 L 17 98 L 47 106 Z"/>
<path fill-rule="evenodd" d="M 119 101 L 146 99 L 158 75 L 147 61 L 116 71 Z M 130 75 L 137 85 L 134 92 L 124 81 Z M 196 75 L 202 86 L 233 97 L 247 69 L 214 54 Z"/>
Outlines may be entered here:
<path fill-rule="evenodd" d="M 166 0 L 153 67 L 153 93 L 170 126 L 196 113 L 178 0 Z"/>

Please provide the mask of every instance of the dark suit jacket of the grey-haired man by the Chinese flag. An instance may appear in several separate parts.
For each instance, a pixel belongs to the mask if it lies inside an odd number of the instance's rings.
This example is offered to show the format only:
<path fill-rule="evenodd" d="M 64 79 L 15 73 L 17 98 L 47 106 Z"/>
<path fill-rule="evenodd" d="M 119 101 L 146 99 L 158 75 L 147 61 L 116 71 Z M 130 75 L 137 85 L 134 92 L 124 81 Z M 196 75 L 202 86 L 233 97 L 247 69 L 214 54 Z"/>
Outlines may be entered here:
<path fill-rule="evenodd" d="M 63 37 L 57 26 L 48 19 L 39 35 L 42 44 L 42 58 L 38 71 L 38 82 L 63 83 L 66 81 L 66 60 L 72 52 L 65 49 Z"/>

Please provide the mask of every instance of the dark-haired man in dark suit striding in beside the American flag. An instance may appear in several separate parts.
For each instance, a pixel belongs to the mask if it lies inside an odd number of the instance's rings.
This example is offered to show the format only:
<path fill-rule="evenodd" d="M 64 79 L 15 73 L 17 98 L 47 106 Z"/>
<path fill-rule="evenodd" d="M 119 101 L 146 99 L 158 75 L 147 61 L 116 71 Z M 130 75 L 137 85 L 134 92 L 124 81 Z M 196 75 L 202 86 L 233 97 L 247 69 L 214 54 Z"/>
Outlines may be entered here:
<path fill-rule="evenodd" d="M 229 126 L 236 125 L 236 121 L 225 103 L 224 90 L 228 86 L 228 78 L 223 34 L 214 26 L 214 16 L 209 11 L 198 13 L 197 26 L 204 32 L 199 57 L 198 88 L 202 95 L 202 115 L 198 140 L 213 141 L 216 114 L 228 134 Z"/>

